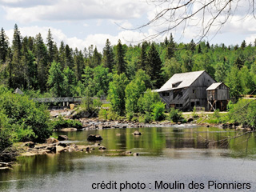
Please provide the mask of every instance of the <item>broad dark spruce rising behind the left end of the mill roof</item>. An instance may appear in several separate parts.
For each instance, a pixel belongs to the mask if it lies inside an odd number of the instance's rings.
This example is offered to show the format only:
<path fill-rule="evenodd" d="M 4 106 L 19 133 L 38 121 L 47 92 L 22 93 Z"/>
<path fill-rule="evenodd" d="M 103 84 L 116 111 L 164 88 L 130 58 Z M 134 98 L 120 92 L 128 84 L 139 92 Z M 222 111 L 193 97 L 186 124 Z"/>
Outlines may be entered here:
<path fill-rule="evenodd" d="M 153 86 L 160 88 L 162 86 L 162 61 L 154 43 L 150 46 L 146 61 L 146 74 L 150 75 Z"/>

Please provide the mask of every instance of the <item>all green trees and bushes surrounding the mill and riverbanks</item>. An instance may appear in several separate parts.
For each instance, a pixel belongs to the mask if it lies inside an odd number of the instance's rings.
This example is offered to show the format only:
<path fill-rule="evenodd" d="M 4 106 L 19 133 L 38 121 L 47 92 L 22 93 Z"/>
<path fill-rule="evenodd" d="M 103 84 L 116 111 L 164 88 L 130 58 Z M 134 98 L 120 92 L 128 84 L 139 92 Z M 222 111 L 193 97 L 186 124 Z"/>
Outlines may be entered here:
<path fill-rule="evenodd" d="M 85 45 L 86 46 L 86 45 Z M 77 114 L 95 112 L 100 118 L 128 119 L 135 122 L 179 122 L 178 110 L 166 114 L 158 89 L 173 74 L 206 70 L 217 82 L 230 87 L 235 102 L 241 94 L 254 94 L 256 89 L 256 41 L 247 45 L 210 45 L 175 42 L 172 35 L 163 42 L 141 42 L 137 45 L 112 46 L 106 39 L 102 53 L 90 45 L 84 50 L 61 42 L 57 46 L 48 31 L 46 42 L 39 33 L 22 37 L 14 26 L 10 43 L 5 30 L 0 32 L 0 126 L 3 149 L 12 142 L 43 141 L 53 130 L 46 106 L 30 98 L 86 97 Z M 16 88 L 25 95 L 14 95 Z M 90 97 L 110 101 L 110 109 L 99 109 L 101 103 Z M 255 102 L 239 100 L 229 104 L 229 114 L 216 111 L 203 121 L 240 122 L 255 126 Z M 242 114 L 241 114 L 242 113 Z M 198 114 L 198 113 L 197 113 Z M 194 116 L 194 115 L 193 115 Z M 200 119 L 200 114 L 195 119 Z M 216 119 L 216 120 L 213 120 Z M 57 125 L 67 122 L 59 120 Z M 73 122 L 72 122 L 73 123 Z M 56 125 L 55 125 L 56 128 Z"/>

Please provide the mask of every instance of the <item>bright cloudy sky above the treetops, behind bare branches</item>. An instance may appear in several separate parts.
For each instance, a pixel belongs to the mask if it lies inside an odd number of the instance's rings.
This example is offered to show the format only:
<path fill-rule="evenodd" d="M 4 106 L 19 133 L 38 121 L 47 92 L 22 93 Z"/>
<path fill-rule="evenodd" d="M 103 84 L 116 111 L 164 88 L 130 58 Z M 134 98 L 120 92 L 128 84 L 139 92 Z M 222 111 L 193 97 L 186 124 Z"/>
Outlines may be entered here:
<path fill-rule="evenodd" d="M 256 18 L 250 14 L 250 1 L 252 0 L 234 1 L 238 4 L 230 9 L 232 17 L 218 30 L 218 23 L 226 19 L 225 14 L 220 15 L 219 20 L 216 20 L 209 34 L 203 39 L 210 44 L 224 43 L 226 46 L 241 45 L 243 40 L 246 40 L 247 44 L 253 43 L 256 38 Z M 0 0 L 0 27 L 6 31 L 10 42 L 16 23 L 23 37 L 35 37 L 40 33 L 46 42 L 50 29 L 58 46 L 63 41 L 72 48 L 78 47 L 79 50 L 94 45 L 102 51 L 107 38 L 112 45 L 116 45 L 118 39 L 127 45 L 138 44 L 150 35 L 165 30 L 170 26 L 168 19 L 171 15 L 166 15 L 167 18 L 162 18 L 153 25 L 137 28 L 149 22 L 159 11 L 175 5 L 175 0 L 166 2 L 156 5 L 149 0 Z M 221 6 L 222 2 L 226 1 L 215 2 L 219 2 L 218 6 Z M 194 3 L 193 6 L 186 7 L 186 13 L 193 12 L 199 6 L 200 3 Z M 218 9 L 216 5 L 214 8 Z M 176 12 L 177 18 L 182 18 L 181 12 L 182 10 Z M 203 25 L 210 21 L 211 13 L 213 12 L 204 15 Z M 197 42 L 200 30 L 202 14 L 186 22 L 186 26 L 180 25 L 170 32 L 175 42 L 187 43 L 192 38 Z M 161 42 L 166 36 L 169 37 L 170 34 L 162 34 L 154 38 L 154 41 Z"/>

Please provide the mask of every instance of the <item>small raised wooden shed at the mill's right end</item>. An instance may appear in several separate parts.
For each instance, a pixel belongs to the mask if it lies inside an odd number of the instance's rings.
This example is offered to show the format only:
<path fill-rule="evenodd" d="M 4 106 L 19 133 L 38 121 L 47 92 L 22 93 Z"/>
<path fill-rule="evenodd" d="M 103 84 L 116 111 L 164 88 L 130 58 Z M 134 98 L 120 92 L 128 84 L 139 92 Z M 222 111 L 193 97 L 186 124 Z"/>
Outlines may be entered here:
<path fill-rule="evenodd" d="M 209 110 L 226 110 L 227 103 L 230 100 L 228 86 L 223 82 L 215 82 L 206 91 Z"/>

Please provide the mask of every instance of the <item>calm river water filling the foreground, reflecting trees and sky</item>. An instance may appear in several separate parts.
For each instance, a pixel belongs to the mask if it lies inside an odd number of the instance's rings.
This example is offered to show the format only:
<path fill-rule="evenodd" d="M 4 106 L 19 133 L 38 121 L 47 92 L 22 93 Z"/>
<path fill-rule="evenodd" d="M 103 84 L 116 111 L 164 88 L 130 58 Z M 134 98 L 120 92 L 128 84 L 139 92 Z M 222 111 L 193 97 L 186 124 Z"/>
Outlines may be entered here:
<path fill-rule="evenodd" d="M 142 135 L 134 136 L 134 130 Z M 101 134 L 101 145 L 107 150 L 19 157 L 20 166 L 0 170 L 0 191 L 256 191 L 254 134 L 231 140 L 229 145 L 206 140 L 220 141 L 238 132 L 206 127 L 55 133 L 58 134 L 68 134 L 69 142 L 77 145 L 93 144 L 86 141 L 87 136 Z M 110 155 L 126 150 L 140 155 Z M 176 190 L 170 190 L 168 187 L 174 187 L 175 182 Z M 112 189 L 93 189 L 97 183 L 108 184 L 105 186 Z M 231 183 L 233 188 L 223 190 L 222 183 Z M 200 185 L 202 189 L 195 189 Z M 238 189 L 239 185 L 245 189 Z"/>

